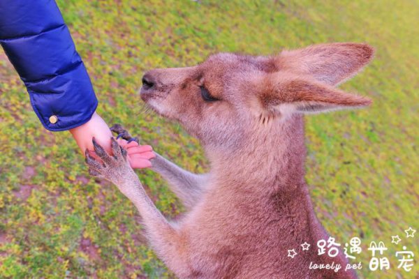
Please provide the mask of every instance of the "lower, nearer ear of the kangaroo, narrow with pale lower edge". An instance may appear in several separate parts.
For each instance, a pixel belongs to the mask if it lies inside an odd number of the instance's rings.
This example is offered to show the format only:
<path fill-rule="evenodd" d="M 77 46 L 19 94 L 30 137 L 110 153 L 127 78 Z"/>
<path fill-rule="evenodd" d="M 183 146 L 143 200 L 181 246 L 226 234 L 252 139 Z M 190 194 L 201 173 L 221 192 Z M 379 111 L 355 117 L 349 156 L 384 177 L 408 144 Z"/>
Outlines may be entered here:
<path fill-rule="evenodd" d="M 294 75 L 267 75 L 259 99 L 266 110 L 304 114 L 348 110 L 371 105 L 372 100 L 333 86 Z"/>

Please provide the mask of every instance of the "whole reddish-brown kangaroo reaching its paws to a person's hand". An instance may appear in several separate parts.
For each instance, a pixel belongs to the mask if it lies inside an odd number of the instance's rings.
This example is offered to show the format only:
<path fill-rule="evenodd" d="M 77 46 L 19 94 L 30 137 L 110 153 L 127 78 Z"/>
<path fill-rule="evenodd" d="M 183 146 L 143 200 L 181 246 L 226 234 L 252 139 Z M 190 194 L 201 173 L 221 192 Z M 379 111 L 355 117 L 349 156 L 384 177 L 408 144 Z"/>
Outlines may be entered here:
<path fill-rule="evenodd" d="M 113 138 L 112 155 L 94 141 L 103 163 L 87 153 L 89 172 L 133 202 L 152 248 L 179 278 L 357 278 L 344 271 L 340 250 L 318 255 L 317 242 L 329 235 L 304 181 L 303 116 L 370 105 L 335 86 L 373 54 L 366 44 L 331 43 L 274 56 L 220 53 L 147 72 L 142 100 L 197 137 L 210 161 L 210 172 L 193 174 L 159 154 L 152 160 L 186 206 L 176 222 L 156 209 Z"/>

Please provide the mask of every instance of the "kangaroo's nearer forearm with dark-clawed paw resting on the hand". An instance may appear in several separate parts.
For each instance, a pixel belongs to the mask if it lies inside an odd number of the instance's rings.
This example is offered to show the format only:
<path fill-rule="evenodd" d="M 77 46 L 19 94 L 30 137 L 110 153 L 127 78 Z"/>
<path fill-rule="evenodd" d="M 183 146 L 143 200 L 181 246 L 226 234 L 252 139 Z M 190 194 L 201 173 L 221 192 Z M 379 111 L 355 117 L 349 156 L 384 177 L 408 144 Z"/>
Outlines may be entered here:
<path fill-rule="evenodd" d="M 128 163 L 126 150 L 119 146 L 113 137 L 110 144 L 112 155 L 107 153 L 96 140 L 92 142 L 94 151 L 102 162 L 91 157 L 86 151 L 89 173 L 114 183 L 121 193 L 133 202 L 142 216 L 149 242 L 169 268 L 184 266 L 182 269 L 187 269 L 186 259 L 179 256 L 179 251 L 185 247 L 182 237 L 147 196 L 140 179 Z"/>

